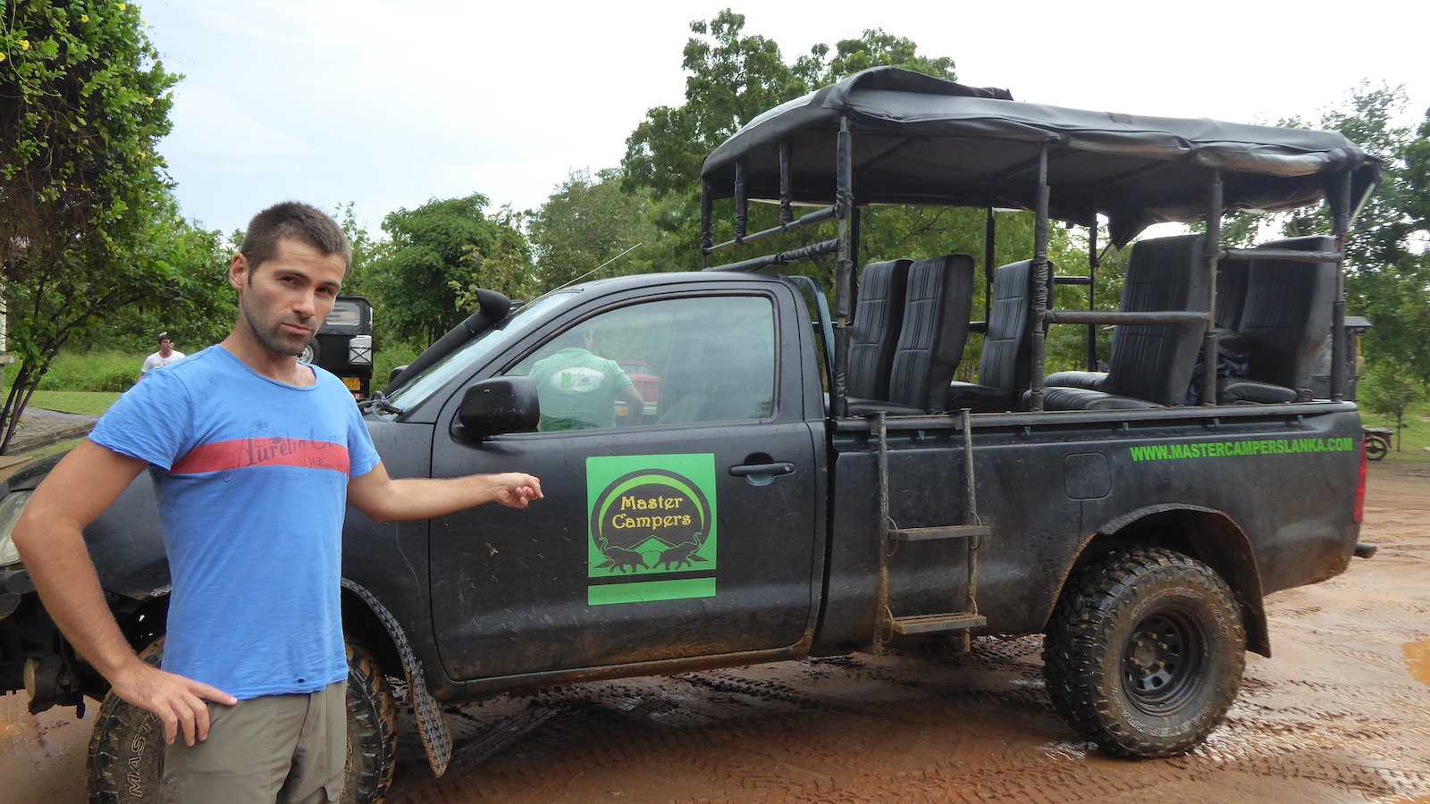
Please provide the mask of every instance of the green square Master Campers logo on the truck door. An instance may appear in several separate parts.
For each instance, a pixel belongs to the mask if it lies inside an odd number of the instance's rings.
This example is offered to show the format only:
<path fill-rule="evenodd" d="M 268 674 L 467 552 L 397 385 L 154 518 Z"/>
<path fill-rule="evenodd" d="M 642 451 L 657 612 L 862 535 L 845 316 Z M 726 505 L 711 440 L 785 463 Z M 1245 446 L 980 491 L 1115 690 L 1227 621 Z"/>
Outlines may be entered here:
<path fill-rule="evenodd" d="M 586 458 L 589 605 L 715 597 L 715 455 Z"/>

